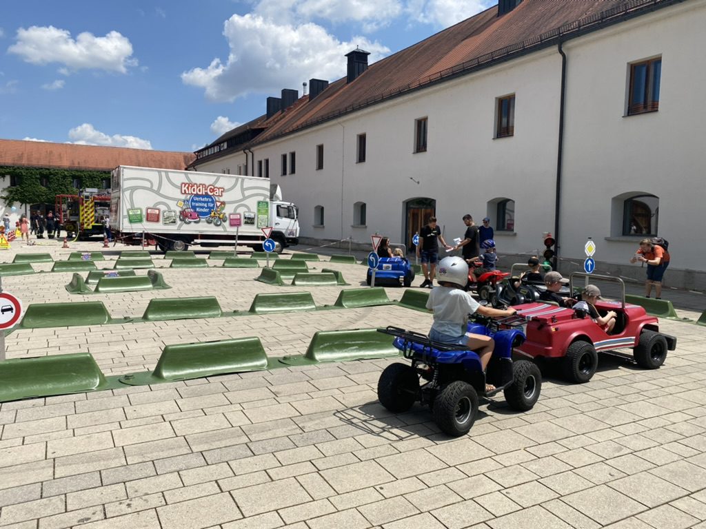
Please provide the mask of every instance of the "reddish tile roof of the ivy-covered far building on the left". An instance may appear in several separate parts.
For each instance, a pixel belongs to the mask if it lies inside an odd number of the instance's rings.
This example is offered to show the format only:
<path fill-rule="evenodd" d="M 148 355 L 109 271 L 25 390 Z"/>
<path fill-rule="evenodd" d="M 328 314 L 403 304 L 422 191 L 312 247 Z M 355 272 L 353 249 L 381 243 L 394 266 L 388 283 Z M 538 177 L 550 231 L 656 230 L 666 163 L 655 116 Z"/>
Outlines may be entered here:
<path fill-rule="evenodd" d="M 169 152 L 73 143 L 0 140 L 0 166 L 51 167 L 112 171 L 119 165 L 185 169 L 193 152 Z"/>

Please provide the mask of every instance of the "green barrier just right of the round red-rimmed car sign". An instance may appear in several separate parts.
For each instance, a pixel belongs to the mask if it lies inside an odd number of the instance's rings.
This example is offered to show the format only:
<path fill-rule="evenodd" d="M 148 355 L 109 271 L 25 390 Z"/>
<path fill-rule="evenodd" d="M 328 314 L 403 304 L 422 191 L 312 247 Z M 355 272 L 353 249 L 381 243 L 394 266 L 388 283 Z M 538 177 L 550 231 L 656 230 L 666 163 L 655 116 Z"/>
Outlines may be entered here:
<path fill-rule="evenodd" d="M 102 301 L 30 303 L 27 310 L 25 310 L 25 315 L 22 317 L 19 327 L 23 329 L 80 327 L 83 325 L 102 325 L 109 321 L 110 315 Z"/>

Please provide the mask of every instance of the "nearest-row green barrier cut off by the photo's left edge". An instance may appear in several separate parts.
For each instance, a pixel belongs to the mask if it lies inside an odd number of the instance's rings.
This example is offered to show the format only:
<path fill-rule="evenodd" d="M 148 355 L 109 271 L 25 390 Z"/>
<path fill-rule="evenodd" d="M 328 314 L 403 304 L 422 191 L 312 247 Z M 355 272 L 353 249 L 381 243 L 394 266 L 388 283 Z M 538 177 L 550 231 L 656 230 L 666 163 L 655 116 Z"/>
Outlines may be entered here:
<path fill-rule="evenodd" d="M 0 401 L 110 389 L 90 353 L 0 362 Z"/>

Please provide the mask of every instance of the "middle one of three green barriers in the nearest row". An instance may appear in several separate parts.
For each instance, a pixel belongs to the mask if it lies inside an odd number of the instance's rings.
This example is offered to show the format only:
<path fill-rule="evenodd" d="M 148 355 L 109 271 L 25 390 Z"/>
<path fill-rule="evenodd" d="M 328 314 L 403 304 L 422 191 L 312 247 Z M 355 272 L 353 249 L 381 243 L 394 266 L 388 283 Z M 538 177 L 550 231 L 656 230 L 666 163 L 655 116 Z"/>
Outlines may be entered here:
<path fill-rule="evenodd" d="M 124 375 L 120 377 L 120 382 L 138 386 L 267 368 L 267 354 L 258 338 L 180 343 L 162 350 L 152 373 Z"/>

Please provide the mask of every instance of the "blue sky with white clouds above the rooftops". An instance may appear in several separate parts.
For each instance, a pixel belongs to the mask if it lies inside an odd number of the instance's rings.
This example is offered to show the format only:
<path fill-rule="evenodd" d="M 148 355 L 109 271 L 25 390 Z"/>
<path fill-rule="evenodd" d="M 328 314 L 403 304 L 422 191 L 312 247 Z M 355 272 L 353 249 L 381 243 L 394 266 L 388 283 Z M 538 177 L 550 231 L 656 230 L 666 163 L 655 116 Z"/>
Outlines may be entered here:
<path fill-rule="evenodd" d="M 496 3 L 5 0 L 0 138 L 193 151 L 356 46 L 373 62 Z"/>

